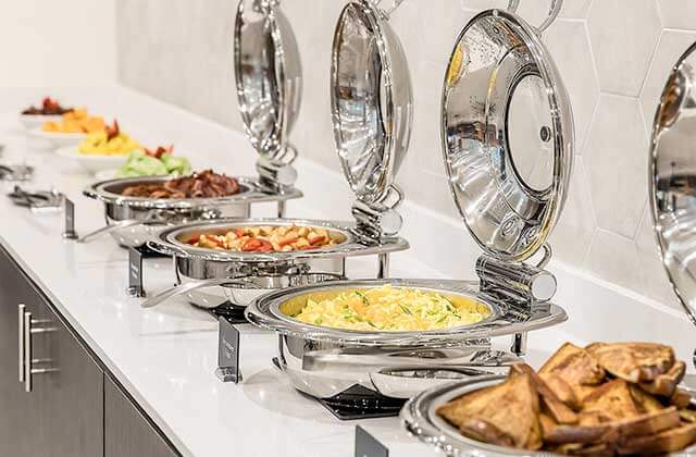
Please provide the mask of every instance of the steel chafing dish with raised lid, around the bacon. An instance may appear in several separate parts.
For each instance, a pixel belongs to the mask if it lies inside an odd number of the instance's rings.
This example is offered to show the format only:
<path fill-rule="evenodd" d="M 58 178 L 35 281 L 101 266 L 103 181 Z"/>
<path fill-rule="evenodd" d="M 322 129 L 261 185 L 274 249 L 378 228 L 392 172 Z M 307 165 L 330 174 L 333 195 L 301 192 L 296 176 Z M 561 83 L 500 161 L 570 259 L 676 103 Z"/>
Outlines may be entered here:
<path fill-rule="evenodd" d="M 171 176 L 110 180 L 84 195 L 104 203 L 107 225 L 79 238 L 110 233 L 120 245 L 141 246 L 163 225 L 226 217 L 249 218 L 250 207 L 286 201 L 302 194 L 294 187 L 297 150 L 288 137 L 299 112 L 302 74 L 297 44 L 277 1 L 243 0 L 235 23 L 235 74 L 239 111 L 251 146 L 259 153 L 257 177 L 237 177 L 239 194 L 214 199 L 145 199 L 120 195 L 127 185 L 161 183 Z"/>

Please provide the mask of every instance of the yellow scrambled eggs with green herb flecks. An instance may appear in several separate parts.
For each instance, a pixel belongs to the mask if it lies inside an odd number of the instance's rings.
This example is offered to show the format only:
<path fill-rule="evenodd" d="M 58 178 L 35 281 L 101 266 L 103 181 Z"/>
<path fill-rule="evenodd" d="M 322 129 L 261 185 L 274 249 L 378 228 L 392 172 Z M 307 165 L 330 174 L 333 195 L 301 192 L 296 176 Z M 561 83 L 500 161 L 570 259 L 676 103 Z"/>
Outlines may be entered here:
<path fill-rule="evenodd" d="M 489 308 L 471 298 L 385 285 L 307 300 L 295 319 L 314 325 L 366 331 L 426 331 L 482 321 Z"/>

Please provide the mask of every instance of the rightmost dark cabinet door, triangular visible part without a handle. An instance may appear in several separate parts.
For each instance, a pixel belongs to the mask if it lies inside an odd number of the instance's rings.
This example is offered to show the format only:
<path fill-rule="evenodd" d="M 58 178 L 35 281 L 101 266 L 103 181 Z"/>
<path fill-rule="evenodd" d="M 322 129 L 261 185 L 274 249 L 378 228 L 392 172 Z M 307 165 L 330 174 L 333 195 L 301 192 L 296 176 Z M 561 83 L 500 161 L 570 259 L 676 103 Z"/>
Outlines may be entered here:
<path fill-rule="evenodd" d="M 178 455 L 121 388 L 104 376 L 104 457 Z"/>

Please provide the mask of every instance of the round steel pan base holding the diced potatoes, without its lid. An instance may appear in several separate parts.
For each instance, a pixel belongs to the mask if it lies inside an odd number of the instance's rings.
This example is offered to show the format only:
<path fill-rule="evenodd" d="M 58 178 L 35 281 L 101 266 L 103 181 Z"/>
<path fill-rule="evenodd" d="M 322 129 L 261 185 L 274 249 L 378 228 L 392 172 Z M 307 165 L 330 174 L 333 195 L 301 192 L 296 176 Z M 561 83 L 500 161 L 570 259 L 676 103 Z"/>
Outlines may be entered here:
<path fill-rule="evenodd" d="M 339 243 L 289 252 L 227 251 L 185 243 L 185 239 L 201 233 L 226 233 L 237 227 L 263 225 L 321 227 Z M 164 228 L 148 242 L 148 246 L 174 258 L 177 285 L 149 298 L 142 306 L 153 307 L 177 295 L 185 295 L 195 305 L 206 308 L 227 299 L 235 305 L 247 306 L 256 297 L 278 288 L 343 279 L 347 257 L 380 255 L 409 247 L 405 239 L 398 237 L 380 244 L 365 244 L 350 228 L 350 223 L 307 219 L 222 219 Z M 217 299 L 211 298 L 212 287 L 216 289 L 212 295 Z M 201 293 L 203 288 L 209 293 Z"/>

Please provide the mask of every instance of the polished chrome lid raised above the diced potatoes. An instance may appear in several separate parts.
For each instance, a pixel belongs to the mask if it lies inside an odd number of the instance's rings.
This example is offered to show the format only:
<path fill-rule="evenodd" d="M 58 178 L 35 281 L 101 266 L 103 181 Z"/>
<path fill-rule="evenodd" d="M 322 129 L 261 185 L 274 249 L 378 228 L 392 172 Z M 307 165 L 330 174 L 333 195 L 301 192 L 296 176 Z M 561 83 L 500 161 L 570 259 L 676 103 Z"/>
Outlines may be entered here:
<path fill-rule="evenodd" d="M 411 79 L 401 44 L 387 23 L 391 11 L 371 0 L 350 1 L 336 25 L 332 51 L 338 157 L 358 200 L 371 206 L 389 196 L 411 136 Z"/>

